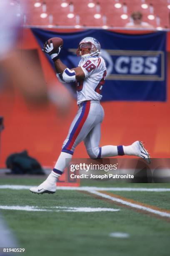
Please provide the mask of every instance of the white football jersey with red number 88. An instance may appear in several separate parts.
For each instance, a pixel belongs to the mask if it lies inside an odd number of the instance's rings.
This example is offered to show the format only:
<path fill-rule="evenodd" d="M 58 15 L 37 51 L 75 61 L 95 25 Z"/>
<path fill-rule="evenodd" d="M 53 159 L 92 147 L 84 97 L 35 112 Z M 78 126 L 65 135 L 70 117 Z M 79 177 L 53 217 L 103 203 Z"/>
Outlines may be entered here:
<path fill-rule="evenodd" d="M 78 66 L 85 73 L 85 78 L 76 81 L 77 104 L 85 100 L 101 100 L 101 90 L 106 77 L 104 59 L 100 56 L 89 56 L 81 59 Z"/>

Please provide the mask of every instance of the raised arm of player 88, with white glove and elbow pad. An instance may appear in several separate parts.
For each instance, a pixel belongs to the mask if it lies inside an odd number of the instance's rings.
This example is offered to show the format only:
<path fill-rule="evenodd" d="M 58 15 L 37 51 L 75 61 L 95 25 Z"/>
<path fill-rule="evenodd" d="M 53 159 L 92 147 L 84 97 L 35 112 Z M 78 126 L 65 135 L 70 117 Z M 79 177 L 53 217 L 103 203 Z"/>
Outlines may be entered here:
<path fill-rule="evenodd" d="M 42 51 L 49 54 L 51 59 L 54 61 L 55 70 L 57 73 L 57 77 L 60 82 L 75 82 L 76 79 L 82 79 L 85 77 L 84 72 L 81 67 L 76 67 L 74 69 L 69 69 L 62 63 L 59 59 L 59 54 L 62 46 L 60 46 L 57 50 L 54 49 L 52 41 L 50 41 L 50 46 L 48 42 L 44 44 L 44 48 Z"/>

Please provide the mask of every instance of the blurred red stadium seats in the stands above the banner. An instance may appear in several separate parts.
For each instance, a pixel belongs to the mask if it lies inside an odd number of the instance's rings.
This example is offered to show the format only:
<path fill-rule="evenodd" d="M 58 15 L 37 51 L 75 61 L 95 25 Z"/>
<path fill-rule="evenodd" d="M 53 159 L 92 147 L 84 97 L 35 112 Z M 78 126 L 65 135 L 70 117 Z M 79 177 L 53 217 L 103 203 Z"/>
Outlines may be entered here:
<path fill-rule="evenodd" d="M 65 8 L 61 7 L 61 3 L 66 2 L 68 5 Z M 94 3 L 94 7 L 89 8 L 89 3 Z M 46 18 L 40 18 L 40 14 L 43 12 L 42 5 L 38 8 L 34 6 L 35 0 L 30 0 L 29 2 L 23 0 L 22 3 L 27 4 L 27 8 L 24 10 L 25 13 L 25 24 L 26 25 L 36 25 L 36 26 L 75 26 L 79 25 L 77 22 L 76 15 L 80 16 L 81 26 L 114 26 L 120 27 L 125 26 L 126 23 L 130 21 L 130 15 L 134 11 L 140 11 L 143 14 L 143 21 L 150 23 L 154 27 L 162 26 L 164 28 L 169 28 L 169 9 L 167 8 L 168 2 L 165 0 L 146 0 L 145 3 L 153 6 L 153 14 L 155 15 L 154 20 L 149 20 L 148 15 L 150 13 L 150 8 L 143 9 L 141 7 L 142 1 L 139 0 L 120 0 L 119 3 L 122 4 L 121 8 L 115 8 L 115 0 L 48 0 L 46 2 Z M 22 4 L 21 3 L 21 4 Z M 121 14 L 126 13 L 123 8 L 123 3 L 126 4 L 128 19 L 122 20 Z M 72 7 L 70 7 L 72 6 Z M 98 6 L 98 7 L 97 7 Z M 68 13 L 74 13 L 74 18 L 67 18 Z M 96 13 L 101 14 L 101 18 L 95 19 L 94 15 Z M 52 22 L 50 21 L 49 15 L 52 14 Z M 103 22 L 103 15 L 106 17 L 106 22 Z M 156 19 L 156 17 L 159 17 Z M 158 22 L 160 20 L 160 22 Z M 160 23 L 160 24 L 159 24 Z"/>

